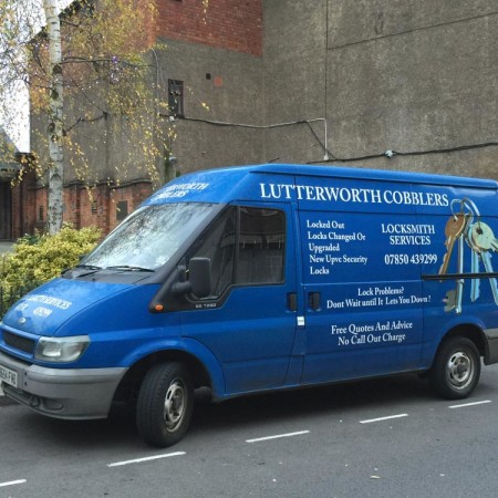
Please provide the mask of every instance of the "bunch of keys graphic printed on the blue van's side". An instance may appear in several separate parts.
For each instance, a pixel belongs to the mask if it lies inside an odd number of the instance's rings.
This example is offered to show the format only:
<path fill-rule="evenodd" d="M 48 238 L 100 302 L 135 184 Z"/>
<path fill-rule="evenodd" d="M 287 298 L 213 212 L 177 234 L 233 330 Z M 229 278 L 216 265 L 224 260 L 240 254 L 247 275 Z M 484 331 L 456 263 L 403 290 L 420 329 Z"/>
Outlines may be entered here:
<path fill-rule="evenodd" d="M 459 204 L 459 211 L 455 206 Z M 498 240 L 491 227 L 480 219 L 479 210 L 470 199 L 454 199 L 452 201 L 452 216 L 446 222 L 446 253 L 438 274 L 448 272 L 449 261 L 457 245 L 456 288 L 446 294 L 445 311 L 461 313 L 461 301 L 466 278 L 470 279 L 470 301 L 475 302 L 480 295 L 480 279 L 486 278 L 491 287 L 495 303 L 498 304 L 497 273 L 492 269 L 491 252 L 498 252 Z M 470 273 L 464 273 L 465 245 L 470 248 Z M 480 272 L 483 261 L 485 272 Z M 489 277 L 486 274 L 489 273 Z"/>

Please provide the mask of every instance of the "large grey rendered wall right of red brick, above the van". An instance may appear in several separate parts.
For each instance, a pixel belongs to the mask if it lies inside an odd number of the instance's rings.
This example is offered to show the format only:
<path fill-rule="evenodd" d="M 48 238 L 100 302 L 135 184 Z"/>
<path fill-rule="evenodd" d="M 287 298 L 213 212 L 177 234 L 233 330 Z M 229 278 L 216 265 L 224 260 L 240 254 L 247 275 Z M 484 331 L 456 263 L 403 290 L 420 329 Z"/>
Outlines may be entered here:
<path fill-rule="evenodd" d="M 496 1 L 263 6 L 267 121 L 326 117 L 328 147 L 347 164 L 498 178 Z M 314 137 L 287 132 L 267 133 L 268 156 L 321 160 Z"/>

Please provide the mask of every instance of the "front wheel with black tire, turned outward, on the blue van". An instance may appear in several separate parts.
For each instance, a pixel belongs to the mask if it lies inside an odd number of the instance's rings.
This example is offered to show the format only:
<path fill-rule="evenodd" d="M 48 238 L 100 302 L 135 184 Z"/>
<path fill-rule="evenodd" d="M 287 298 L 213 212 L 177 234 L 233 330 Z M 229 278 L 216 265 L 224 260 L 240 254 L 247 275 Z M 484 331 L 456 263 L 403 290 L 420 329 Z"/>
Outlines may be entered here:
<path fill-rule="evenodd" d="M 138 434 L 152 446 L 172 446 L 185 436 L 193 408 L 194 387 L 187 367 L 158 363 L 147 372 L 138 392 Z"/>

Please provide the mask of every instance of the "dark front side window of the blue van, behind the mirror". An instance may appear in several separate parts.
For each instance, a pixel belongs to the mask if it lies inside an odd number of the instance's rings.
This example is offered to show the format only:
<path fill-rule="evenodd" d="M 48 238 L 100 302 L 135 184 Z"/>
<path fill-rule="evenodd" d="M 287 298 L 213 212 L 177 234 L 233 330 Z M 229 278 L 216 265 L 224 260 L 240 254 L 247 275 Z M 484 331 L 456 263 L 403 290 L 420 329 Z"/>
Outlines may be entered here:
<path fill-rule="evenodd" d="M 276 209 L 229 207 L 203 235 L 191 257 L 211 260 L 211 295 L 232 284 L 283 281 L 286 217 Z"/>

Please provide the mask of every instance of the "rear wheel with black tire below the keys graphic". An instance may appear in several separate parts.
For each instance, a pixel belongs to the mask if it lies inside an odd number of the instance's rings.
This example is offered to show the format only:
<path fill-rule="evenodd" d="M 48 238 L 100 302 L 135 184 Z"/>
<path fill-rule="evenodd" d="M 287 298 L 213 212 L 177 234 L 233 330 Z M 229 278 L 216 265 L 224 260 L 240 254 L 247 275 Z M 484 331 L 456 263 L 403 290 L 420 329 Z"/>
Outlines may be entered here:
<path fill-rule="evenodd" d="M 480 355 L 473 341 L 450 338 L 437 351 L 428 373 L 433 388 L 447 400 L 463 400 L 475 390 L 480 376 Z"/>

